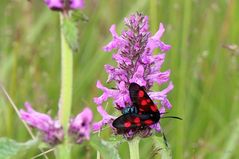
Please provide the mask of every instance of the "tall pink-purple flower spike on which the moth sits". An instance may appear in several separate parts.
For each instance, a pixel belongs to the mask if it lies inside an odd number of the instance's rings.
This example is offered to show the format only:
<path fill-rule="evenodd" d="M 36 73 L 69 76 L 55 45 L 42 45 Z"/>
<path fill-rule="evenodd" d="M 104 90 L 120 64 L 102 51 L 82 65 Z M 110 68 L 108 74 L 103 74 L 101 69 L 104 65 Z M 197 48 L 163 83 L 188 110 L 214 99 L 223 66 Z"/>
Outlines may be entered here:
<path fill-rule="evenodd" d="M 132 106 L 132 101 L 129 96 L 129 86 L 131 83 L 136 83 L 145 88 L 145 91 L 157 105 L 158 109 L 163 114 L 166 109 L 171 109 L 171 104 L 167 99 L 167 94 L 173 89 L 173 84 L 170 81 L 170 70 L 161 71 L 161 66 L 165 59 L 165 52 L 170 50 L 171 46 L 161 41 L 165 31 L 162 23 L 159 25 L 159 30 L 155 35 L 151 35 L 148 25 L 148 17 L 137 13 L 125 18 L 126 29 L 122 34 L 116 31 L 116 25 L 112 25 L 110 32 L 113 40 L 103 47 L 103 50 L 110 52 L 116 50 L 112 55 L 117 66 L 105 65 L 105 70 L 108 73 L 109 82 L 115 83 L 115 88 L 110 89 L 100 81 L 97 81 L 97 88 L 103 91 L 103 94 L 94 98 L 94 102 L 98 105 L 98 111 L 103 119 L 95 124 L 94 130 L 100 130 L 102 126 L 108 124 L 112 127 L 112 122 L 115 117 L 109 115 L 104 109 L 103 104 L 113 99 L 113 105 L 117 110 L 124 110 Z M 161 51 L 155 55 L 153 52 L 159 48 Z M 169 83 L 169 84 L 168 84 Z M 162 89 L 162 85 L 168 86 L 161 91 L 153 92 L 152 86 L 157 84 Z M 112 127 L 114 131 L 114 127 Z M 129 131 L 124 136 L 132 138 L 136 134 L 146 137 L 151 134 L 151 130 L 160 131 L 159 123 L 156 123 L 145 130 Z M 114 131 L 116 132 L 116 131 Z"/>

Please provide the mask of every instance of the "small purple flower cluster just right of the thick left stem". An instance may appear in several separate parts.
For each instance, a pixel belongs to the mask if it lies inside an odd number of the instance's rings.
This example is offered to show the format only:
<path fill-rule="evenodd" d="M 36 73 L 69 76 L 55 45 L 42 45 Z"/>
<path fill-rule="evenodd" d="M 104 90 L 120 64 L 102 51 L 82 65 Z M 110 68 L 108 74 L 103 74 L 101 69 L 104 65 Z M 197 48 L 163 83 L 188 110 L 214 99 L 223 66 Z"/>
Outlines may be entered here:
<path fill-rule="evenodd" d="M 85 108 L 80 114 L 70 121 L 68 134 L 77 144 L 90 139 L 93 113 L 90 108 Z"/>

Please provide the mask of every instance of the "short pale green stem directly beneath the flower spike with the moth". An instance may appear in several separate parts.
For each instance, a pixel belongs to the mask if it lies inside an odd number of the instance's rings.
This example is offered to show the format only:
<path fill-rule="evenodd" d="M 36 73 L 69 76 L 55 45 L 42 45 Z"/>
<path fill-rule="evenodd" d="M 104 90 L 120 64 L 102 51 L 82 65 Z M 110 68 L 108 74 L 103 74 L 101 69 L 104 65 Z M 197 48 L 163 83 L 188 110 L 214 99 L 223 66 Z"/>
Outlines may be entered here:
<path fill-rule="evenodd" d="M 140 138 L 135 137 L 133 140 L 128 141 L 130 159 L 139 159 L 139 141 Z"/>

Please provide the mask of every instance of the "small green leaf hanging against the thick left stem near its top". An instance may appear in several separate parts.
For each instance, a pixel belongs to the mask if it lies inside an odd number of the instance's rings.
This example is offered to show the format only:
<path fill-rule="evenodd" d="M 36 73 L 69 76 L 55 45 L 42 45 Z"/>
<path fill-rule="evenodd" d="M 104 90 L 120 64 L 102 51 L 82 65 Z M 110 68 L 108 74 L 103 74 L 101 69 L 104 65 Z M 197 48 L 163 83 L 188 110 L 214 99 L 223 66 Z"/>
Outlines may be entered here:
<path fill-rule="evenodd" d="M 63 33 L 70 48 L 76 52 L 78 50 L 78 29 L 76 23 L 65 18 L 63 22 Z"/>

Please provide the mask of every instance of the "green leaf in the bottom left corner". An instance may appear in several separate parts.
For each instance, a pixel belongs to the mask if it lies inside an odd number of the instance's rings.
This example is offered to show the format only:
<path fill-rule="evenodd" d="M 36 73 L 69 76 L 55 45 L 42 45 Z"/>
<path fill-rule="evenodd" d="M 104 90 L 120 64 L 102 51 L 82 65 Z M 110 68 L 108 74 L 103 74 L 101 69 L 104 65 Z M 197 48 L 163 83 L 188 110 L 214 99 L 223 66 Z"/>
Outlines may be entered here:
<path fill-rule="evenodd" d="M 0 138 L 0 158 L 16 159 L 28 149 L 37 145 L 37 140 L 29 140 L 24 143 L 16 142 L 9 138 Z"/>

